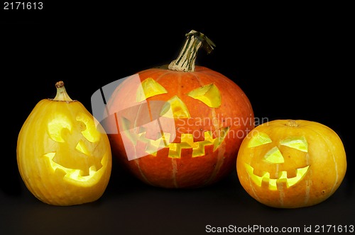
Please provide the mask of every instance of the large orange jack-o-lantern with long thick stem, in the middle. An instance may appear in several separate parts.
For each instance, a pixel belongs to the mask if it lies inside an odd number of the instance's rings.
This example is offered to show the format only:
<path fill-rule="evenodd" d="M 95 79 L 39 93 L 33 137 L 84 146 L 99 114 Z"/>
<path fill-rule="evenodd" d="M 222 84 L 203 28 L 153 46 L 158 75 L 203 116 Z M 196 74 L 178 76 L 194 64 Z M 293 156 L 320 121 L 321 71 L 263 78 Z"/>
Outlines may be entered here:
<path fill-rule="evenodd" d="M 213 42 L 195 30 L 186 36 L 178 59 L 128 77 L 107 102 L 107 133 L 121 166 L 163 188 L 202 187 L 235 171 L 241 141 L 254 127 L 244 91 L 195 66 L 197 50 L 210 52 Z"/>

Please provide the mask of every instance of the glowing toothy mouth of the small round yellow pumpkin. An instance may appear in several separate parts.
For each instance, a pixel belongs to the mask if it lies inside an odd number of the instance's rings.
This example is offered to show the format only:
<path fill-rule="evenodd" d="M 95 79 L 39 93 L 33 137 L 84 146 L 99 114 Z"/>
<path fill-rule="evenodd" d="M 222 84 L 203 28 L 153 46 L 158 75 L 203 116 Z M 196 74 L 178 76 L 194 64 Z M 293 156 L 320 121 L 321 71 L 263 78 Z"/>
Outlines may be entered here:
<path fill-rule="evenodd" d="M 246 171 L 249 173 L 249 176 L 251 180 L 253 180 L 256 185 L 261 187 L 261 184 L 264 182 L 268 183 L 268 188 L 270 190 L 278 190 L 280 188 L 280 185 L 285 183 L 287 188 L 290 188 L 291 186 L 295 185 L 297 182 L 299 182 L 307 173 L 308 168 L 310 166 L 305 166 L 303 168 L 297 168 L 296 169 L 296 176 L 293 178 L 288 178 L 287 171 L 280 171 L 278 174 L 278 178 L 270 178 L 270 173 L 263 171 L 261 173 L 262 176 L 256 176 L 256 174 L 253 173 L 254 168 L 250 166 L 249 164 L 245 164 L 246 166 Z"/>

